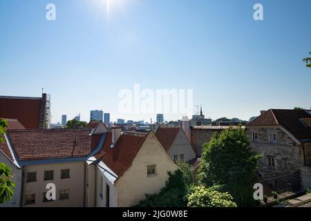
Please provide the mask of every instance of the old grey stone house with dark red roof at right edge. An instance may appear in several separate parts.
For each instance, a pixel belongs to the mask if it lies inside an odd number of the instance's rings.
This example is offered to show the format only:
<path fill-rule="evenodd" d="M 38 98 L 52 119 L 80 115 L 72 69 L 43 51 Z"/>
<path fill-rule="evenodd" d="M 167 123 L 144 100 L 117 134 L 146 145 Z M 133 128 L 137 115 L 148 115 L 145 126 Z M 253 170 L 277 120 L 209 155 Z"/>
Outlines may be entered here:
<path fill-rule="evenodd" d="M 270 109 L 246 125 L 263 157 L 258 175 L 270 189 L 311 187 L 311 111 Z"/>

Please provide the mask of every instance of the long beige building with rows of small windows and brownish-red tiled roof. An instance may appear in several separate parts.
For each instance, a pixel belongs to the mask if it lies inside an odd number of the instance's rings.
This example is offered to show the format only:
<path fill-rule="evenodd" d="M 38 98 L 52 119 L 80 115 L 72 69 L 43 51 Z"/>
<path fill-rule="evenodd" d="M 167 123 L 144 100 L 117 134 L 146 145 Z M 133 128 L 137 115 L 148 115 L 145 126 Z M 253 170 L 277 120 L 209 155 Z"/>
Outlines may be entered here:
<path fill-rule="evenodd" d="M 21 206 L 84 206 L 86 160 L 106 134 L 88 129 L 8 130 L 6 144 L 21 170 Z M 47 200 L 47 184 L 56 199 Z"/>

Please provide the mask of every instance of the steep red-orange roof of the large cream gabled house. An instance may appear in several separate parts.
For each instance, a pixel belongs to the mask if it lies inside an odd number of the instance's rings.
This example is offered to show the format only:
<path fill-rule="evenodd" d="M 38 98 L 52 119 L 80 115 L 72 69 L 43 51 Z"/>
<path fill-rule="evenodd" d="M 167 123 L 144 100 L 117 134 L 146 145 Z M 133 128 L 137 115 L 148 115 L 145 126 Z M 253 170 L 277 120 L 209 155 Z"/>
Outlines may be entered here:
<path fill-rule="evenodd" d="M 131 166 L 147 135 L 147 133 L 123 133 L 115 146 L 111 148 L 112 133 L 108 132 L 102 149 L 95 155 L 95 158 L 101 159 L 120 177 Z"/>

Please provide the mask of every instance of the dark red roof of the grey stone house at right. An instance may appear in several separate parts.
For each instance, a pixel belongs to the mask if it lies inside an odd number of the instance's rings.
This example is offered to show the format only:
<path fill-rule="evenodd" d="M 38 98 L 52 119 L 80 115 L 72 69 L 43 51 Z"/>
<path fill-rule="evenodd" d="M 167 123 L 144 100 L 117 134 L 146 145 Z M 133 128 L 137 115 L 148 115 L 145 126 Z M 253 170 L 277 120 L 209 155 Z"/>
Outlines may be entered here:
<path fill-rule="evenodd" d="M 310 139 L 310 110 L 270 109 L 249 122 L 247 126 L 283 126 L 298 140 Z"/>

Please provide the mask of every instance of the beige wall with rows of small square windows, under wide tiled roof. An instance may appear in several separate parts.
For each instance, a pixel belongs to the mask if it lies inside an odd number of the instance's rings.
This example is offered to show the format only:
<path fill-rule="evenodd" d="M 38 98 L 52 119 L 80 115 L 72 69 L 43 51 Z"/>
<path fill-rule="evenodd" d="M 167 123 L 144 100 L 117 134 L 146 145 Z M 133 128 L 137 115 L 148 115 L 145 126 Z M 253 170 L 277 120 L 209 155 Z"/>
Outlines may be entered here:
<path fill-rule="evenodd" d="M 23 179 L 23 206 L 84 206 L 84 162 L 66 162 L 55 164 L 36 164 L 24 166 L 25 176 L 29 172 L 36 172 L 36 181 L 27 182 Z M 61 170 L 69 170 L 69 178 L 61 178 Z M 53 180 L 44 180 L 44 171 L 54 171 Z M 56 186 L 56 200 L 44 202 L 44 193 L 48 191 L 46 184 Z M 68 199 L 61 200 L 60 193 L 68 193 Z M 35 203 L 26 204 L 27 195 L 35 194 Z"/>

